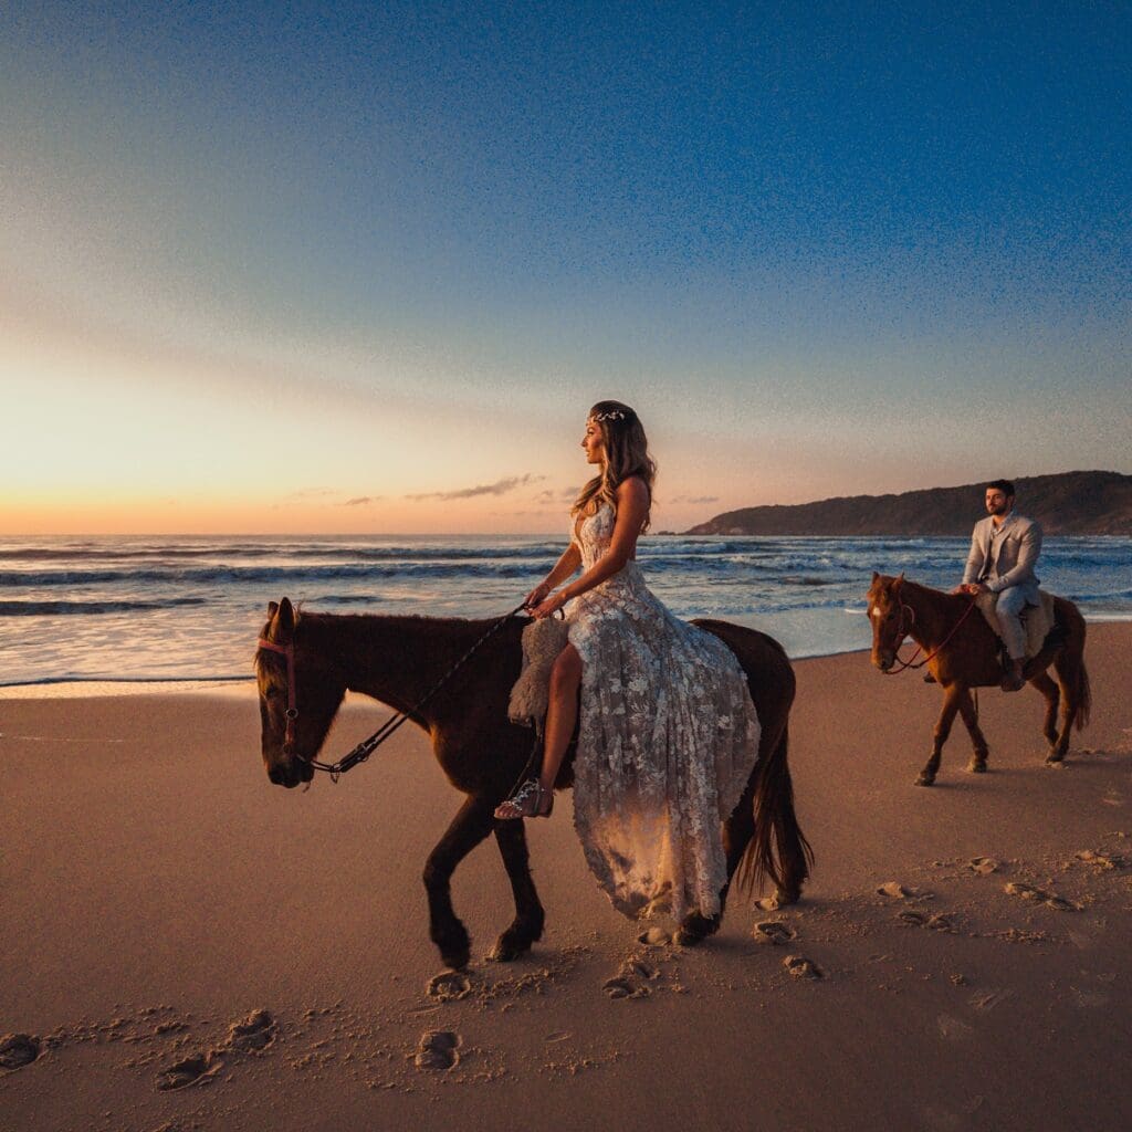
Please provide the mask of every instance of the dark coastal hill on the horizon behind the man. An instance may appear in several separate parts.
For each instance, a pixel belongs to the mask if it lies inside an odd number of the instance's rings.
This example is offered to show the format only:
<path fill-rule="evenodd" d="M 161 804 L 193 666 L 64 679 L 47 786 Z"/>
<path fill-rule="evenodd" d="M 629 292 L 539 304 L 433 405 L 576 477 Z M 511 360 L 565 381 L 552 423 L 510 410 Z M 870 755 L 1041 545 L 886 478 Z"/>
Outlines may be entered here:
<path fill-rule="evenodd" d="M 1132 475 L 1061 472 L 1017 479 L 1018 509 L 1046 534 L 1132 535 Z M 796 506 L 743 507 L 687 534 L 967 535 L 983 509 L 983 481 L 901 495 L 848 496 Z"/>

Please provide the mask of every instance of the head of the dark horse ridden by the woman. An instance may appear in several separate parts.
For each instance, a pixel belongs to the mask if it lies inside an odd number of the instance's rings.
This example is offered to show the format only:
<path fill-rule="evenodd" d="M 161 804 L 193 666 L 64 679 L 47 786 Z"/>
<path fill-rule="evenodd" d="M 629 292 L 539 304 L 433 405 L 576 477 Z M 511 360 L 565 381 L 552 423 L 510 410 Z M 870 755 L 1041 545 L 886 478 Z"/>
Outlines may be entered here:
<path fill-rule="evenodd" d="M 305 633 L 284 598 L 267 606 L 256 650 L 260 748 L 267 777 L 289 789 L 315 777 L 311 760 L 345 695 L 345 678 Z"/>

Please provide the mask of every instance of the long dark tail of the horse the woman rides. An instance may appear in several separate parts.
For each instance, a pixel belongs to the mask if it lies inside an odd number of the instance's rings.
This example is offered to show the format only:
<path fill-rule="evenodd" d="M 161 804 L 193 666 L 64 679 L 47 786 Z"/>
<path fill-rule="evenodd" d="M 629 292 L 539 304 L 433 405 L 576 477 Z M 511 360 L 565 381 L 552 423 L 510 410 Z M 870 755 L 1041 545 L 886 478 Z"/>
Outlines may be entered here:
<path fill-rule="evenodd" d="M 794 811 L 794 783 L 787 765 L 790 728 L 783 723 L 774 749 L 758 767 L 754 791 L 755 832 L 736 869 L 739 889 L 748 897 L 767 877 L 789 900 L 797 900 L 809 876 L 814 850 Z"/>

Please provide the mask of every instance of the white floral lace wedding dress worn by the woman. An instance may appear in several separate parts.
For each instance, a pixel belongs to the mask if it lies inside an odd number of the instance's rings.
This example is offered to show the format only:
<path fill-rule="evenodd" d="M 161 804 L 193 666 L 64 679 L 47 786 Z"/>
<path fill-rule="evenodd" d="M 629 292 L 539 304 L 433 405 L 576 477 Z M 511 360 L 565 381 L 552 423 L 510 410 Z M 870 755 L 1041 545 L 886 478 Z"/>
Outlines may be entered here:
<path fill-rule="evenodd" d="M 589 569 L 608 549 L 606 505 L 572 538 Z M 649 591 L 636 563 L 571 602 L 582 657 L 574 823 L 626 916 L 714 916 L 727 880 L 721 822 L 758 753 L 758 717 L 735 654 Z"/>

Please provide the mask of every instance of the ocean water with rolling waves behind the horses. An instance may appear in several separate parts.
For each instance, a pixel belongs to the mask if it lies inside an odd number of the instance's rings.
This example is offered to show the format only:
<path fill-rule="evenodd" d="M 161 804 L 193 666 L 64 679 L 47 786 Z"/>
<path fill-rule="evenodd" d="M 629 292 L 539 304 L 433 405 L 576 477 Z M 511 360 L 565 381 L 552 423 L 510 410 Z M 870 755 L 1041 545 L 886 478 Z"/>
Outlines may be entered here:
<path fill-rule="evenodd" d="M 563 539 L 28 538 L 0 541 L 0 685 L 247 678 L 267 602 L 323 612 L 496 617 Z M 869 644 L 874 569 L 950 589 L 966 539 L 655 535 L 638 558 L 681 617 L 775 636 L 791 657 Z M 1132 619 L 1132 539 L 1049 538 L 1043 585 L 1094 620 Z"/>

